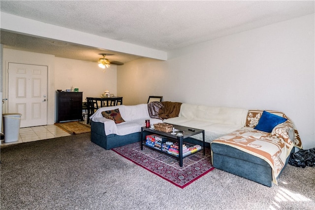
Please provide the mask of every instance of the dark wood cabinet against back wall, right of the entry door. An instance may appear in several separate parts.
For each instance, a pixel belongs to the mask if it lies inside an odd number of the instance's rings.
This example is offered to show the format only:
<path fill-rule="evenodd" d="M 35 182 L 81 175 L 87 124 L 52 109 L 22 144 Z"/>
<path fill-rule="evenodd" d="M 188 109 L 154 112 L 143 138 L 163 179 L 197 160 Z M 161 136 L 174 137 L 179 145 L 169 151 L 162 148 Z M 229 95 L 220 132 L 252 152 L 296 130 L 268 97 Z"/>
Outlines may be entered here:
<path fill-rule="evenodd" d="M 82 92 L 56 92 L 56 121 L 82 120 Z"/>

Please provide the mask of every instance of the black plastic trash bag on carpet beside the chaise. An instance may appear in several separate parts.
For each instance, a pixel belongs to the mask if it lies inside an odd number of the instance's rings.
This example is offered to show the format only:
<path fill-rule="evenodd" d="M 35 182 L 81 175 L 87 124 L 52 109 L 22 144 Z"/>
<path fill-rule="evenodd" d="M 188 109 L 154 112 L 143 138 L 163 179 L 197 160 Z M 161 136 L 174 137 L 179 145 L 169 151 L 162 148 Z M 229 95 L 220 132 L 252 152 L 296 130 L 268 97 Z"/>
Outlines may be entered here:
<path fill-rule="evenodd" d="M 298 152 L 291 153 L 288 163 L 292 166 L 305 168 L 315 165 L 315 148 L 301 149 Z"/>

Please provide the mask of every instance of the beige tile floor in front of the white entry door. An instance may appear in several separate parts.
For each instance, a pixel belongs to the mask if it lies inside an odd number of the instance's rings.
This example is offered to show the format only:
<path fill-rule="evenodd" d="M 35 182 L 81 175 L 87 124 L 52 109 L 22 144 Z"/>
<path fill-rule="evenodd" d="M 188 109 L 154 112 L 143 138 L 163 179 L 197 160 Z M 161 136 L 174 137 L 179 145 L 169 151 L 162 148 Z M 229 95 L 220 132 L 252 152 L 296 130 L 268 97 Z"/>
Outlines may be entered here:
<path fill-rule="evenodd" d="M 85 120 L 85 123 L 87 123 L 86 120 Z M 60 127 L 56 125 L 44 125 L 44 126 L 20 128 L 18 141 L 5 143 L 4 140 L 1 140 L 1 146 L 8 145 L 8 144 L 35 141 L 35 140 L 46 140 L 46 139 L 52 139 L 56 137 L 64 137 L 64 136 L 70 136 L 70 135 L 71 134 L 65 132 L 63 129 L 61 129 Z"/>

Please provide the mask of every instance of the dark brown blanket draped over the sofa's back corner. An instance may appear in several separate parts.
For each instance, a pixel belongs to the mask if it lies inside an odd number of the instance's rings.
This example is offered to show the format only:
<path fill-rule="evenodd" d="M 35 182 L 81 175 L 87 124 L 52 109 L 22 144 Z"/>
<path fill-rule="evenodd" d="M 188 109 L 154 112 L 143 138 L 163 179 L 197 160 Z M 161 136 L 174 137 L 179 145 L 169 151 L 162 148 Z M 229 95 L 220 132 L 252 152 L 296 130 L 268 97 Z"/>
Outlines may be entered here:
<path fill-rule="evenodd" d="M 181 105 L 180 102 L 151 102 L 148 111 L 151 118 L 163 120 L 178 117 Z"/>

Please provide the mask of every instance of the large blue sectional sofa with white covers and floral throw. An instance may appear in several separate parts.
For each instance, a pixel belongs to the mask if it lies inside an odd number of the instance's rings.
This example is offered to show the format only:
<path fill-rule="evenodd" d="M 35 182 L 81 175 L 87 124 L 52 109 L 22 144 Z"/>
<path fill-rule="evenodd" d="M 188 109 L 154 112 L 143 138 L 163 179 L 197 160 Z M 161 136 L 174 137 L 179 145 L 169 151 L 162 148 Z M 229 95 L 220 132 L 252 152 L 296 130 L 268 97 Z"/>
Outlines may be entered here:
<path fill-rule="evenodd" d="M 103 117 L 102 112 L 117 108 L 126 122 L 116 124 Z M 257 130 L 269 115 L 281 121 L 271 121 L 268 132 Z M 181 104 L 178 117 L 168 119 L 149 114 L 147 104 L 100 108 L 91 116 L 91 140 L 105 149 L 140 141 L 145 119 L 151 124 L 165 122 L 205 130 L 215 168 L 266 186 L 277 184 L 294 146 L 302 148 L 293 122 L 282 112 L 191 104 Z M 193 138 L 202 140 L 198 135 Z"/>

